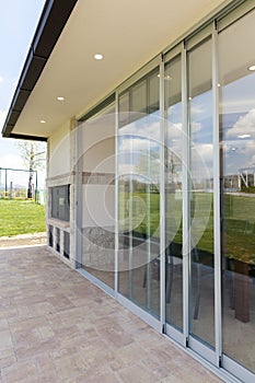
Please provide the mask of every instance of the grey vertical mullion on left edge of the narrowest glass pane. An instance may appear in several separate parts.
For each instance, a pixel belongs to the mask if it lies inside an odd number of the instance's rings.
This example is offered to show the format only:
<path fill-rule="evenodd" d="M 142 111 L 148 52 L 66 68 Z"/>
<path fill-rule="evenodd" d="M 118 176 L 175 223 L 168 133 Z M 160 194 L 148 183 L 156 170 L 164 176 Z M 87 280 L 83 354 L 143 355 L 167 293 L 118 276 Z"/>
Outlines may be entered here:
<path fill-rule="evenodd" d="M 165 119 L 164 60 L 160 63 L 160 321 L 165 326 Z"/>

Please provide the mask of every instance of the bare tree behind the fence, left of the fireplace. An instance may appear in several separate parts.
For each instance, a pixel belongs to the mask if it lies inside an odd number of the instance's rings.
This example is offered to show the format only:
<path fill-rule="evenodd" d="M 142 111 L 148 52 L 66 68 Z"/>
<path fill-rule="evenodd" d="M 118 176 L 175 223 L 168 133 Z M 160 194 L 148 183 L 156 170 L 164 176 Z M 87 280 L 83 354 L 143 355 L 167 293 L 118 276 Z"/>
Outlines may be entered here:
<path fill-rule="evenodd" d="M 21 151 L 21 156 L 23 159 L 24 165 L 30 171 L 27 198 L 33 198 L 34 173 L 35 171 L 45 169 L 46 144 L 44 142 L 38 141 L 19 140 L 18 147 Z"/>

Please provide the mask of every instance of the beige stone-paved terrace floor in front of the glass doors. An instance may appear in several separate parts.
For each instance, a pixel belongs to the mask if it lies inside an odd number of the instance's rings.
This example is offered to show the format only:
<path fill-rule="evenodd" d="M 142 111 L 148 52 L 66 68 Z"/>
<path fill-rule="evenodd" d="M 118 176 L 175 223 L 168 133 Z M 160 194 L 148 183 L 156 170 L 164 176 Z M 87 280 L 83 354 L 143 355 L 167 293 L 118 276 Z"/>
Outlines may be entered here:
<path fill-rule="evenodd" d="M 0 382 L 220 382 L 45 246 L 0 249 Z"/>

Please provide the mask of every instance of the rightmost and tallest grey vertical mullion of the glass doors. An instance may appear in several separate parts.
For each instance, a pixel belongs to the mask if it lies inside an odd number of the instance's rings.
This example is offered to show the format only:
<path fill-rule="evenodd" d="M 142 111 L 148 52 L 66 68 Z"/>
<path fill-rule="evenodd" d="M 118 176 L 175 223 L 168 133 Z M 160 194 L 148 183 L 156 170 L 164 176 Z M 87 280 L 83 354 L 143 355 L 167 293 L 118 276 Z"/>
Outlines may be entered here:
<path fill-rule="evenodd" d="M 221 327 L 221 233 L 220 233 L 220 142 L 219 142 L 219 73 L 218 73 L 218 31 L 212 31 L 212 95 L 213 95 L 213 228 L 215 228 L 215 334 L 216 363 L 222 355 Z"/>

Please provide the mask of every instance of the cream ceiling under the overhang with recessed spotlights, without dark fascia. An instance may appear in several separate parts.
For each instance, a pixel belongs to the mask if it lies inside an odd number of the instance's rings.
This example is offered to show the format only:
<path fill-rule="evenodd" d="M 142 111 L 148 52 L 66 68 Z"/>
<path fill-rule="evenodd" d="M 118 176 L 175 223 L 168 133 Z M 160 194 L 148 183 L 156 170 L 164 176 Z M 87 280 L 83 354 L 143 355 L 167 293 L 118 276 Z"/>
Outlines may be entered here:
<path fill-rule="evenodd" d="M 50 136 L 228 2 L 79 0 L 13 132 Z M 95 53 L 104 59 L 94 60 Z"/>

